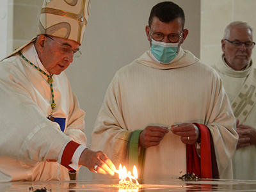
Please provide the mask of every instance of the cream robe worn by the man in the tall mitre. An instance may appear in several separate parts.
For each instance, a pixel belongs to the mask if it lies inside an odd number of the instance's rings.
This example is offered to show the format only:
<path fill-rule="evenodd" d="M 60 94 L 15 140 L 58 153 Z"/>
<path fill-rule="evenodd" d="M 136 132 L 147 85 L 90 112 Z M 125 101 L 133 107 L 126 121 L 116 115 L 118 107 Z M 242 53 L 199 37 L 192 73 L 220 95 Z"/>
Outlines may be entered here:
<path fill-rule="evenodd" d="M 27 59 L 35 60 L 31 44 L 25 49 Z M 79 108 L 67 74 L 62 72 L 53 79 L 53 115 L 66 119 L 64 133 L 47 119 L 51 114 L 47 77 L 18 53 L 0 63 L 0 182 L 69 180 L 68 170 L 59 164 L 58 157 L 70 140 L 86 145 L 85 113 Z"/>

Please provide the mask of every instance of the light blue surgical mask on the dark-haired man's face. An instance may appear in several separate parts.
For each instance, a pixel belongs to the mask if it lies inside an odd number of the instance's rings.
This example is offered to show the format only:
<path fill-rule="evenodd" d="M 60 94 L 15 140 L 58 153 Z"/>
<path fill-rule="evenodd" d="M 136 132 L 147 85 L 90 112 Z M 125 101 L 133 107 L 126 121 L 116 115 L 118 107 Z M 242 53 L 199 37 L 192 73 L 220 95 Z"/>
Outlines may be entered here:
<path fill-rule="evenodd" d="M 178 54 L 178 45 L 179 42 L 173 44 L 157 42 L 156 40 L 152 39 L 150 51 L 161 63 L 171 63 L 175 56 Z"/>

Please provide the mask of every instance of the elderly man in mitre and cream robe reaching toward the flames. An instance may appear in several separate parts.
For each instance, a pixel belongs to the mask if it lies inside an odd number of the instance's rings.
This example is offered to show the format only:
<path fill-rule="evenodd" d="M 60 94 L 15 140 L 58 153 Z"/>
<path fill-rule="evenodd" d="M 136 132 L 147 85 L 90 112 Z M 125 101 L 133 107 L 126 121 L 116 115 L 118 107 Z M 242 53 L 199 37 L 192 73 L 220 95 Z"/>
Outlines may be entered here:
<path fill-rule="evenodd" d="M 81 55 L 89 10 L 88 0 L 44 1 L 38 36 L 1 61 L 0 182 L 76 179 L 80 166 L 115 174 L 86 147 L 85 113 L 64 72 Z"/>

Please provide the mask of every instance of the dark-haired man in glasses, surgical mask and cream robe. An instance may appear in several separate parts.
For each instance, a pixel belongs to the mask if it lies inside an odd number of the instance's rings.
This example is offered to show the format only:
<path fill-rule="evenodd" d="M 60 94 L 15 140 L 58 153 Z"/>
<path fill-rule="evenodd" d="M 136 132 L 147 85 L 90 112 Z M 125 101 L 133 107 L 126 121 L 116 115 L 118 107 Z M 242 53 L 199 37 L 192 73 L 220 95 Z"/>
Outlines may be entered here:
<path fill-rule="evenodd" d="M 180 172 L 232 179 L 236 120 L 221 79 L 181 44 L 184 12 L 166 1 L 151 10 L 145 31 L 150 50 L 116 72 L 92 134 L 92 150 L 143 179 Z M 94 175 L 95 178 L 106 178 Z"/>

